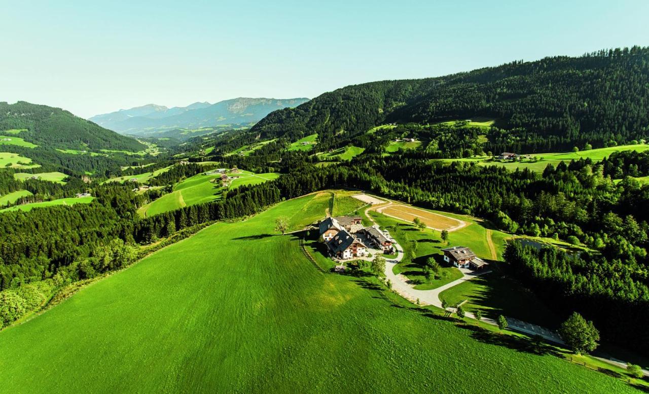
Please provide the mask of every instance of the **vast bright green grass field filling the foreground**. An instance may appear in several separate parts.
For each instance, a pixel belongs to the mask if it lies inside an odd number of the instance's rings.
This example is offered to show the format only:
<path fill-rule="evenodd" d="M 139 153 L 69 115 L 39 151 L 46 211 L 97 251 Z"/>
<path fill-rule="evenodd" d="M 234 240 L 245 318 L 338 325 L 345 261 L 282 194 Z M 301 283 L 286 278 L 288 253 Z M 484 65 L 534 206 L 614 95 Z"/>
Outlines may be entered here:
<path fill-rule="evenodd" d="M 317 271 L 296 236 L 273 227 L 279 216 L 306 225 L 296 214 L 308 205 L 322 215 L 329 199 L 318 196 L 212 225 L 6 328 L 0 391 L 635 392 L 474 325 L 399 307 L 362 278 Z"/>

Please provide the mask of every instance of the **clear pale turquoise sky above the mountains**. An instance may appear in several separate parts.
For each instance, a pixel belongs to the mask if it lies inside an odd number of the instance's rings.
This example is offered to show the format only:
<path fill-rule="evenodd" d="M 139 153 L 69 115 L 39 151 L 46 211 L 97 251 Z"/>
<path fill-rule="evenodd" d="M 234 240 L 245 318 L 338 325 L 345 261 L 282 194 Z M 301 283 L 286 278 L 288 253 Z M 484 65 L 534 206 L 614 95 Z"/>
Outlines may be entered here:
<path fill-rule="evenodd" d="M 82 117 L 315 97 L 649 45 L 649 1 L 0 0 L 0 101 Z"/>

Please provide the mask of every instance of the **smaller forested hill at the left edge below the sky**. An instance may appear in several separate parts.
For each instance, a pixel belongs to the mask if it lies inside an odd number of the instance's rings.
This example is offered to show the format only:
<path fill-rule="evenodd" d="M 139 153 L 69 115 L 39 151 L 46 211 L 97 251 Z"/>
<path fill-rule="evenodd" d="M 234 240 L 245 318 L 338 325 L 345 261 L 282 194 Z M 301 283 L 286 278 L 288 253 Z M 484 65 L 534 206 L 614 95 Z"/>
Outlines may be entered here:
<path fill-rule="evenodd" d="M 27 129 L 21 138 L 61 149 L 112 149 L 137 152 L 145 145 L 99 127 L 66 110 L 18 101 L 0 103 L 0 130 Z"/>

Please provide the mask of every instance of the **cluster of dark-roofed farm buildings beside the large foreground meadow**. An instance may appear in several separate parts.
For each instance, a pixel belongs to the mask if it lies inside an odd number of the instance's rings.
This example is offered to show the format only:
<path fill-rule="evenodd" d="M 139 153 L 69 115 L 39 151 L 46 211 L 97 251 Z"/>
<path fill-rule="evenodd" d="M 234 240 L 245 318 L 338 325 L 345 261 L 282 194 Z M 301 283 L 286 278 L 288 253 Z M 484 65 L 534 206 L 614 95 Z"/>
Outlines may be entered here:
<path fill-rule="evenodd" d="M 330 254 L 339 259 L 367 256 L 368 244 L 379 251 L 392 250 L 386 234 L 376 225 L 363 227 L 358 216 L 327 217 L 318 223 L 318 230 Z"/>

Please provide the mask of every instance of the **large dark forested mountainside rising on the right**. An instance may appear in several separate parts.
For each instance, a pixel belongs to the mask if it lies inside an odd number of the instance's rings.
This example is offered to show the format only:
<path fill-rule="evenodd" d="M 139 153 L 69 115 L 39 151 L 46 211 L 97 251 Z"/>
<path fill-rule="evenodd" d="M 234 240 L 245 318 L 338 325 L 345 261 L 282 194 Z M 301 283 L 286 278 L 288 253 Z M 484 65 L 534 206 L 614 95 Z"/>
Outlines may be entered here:
<path fill-rule="evenodd" d="M 500 130 L 489 134 L 485 150 L 491 144 L 533 153 L 640 140 L 649 128 L 649 48 L 347 86 L 273 112 L 252 131 L 289 140 L 317 132 L 326 148 L 384 123 L 476 116 L 495 119 Z"/>

